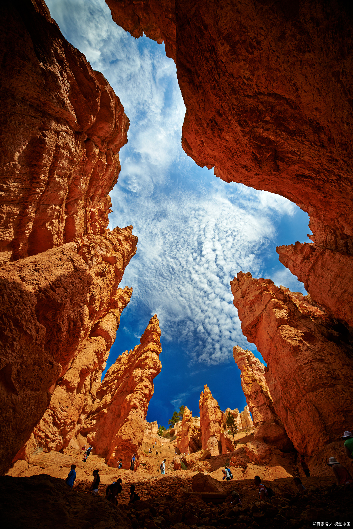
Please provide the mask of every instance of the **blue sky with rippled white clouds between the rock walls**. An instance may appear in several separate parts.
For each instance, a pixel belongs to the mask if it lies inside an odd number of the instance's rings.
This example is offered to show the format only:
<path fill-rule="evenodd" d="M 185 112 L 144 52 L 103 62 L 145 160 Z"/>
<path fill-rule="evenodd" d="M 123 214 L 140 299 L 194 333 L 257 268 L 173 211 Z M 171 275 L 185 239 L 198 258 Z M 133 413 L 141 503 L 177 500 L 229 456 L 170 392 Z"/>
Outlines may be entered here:
<path fill-rule="evenodd" d="M 243 409 L 233 346 L 263 360 L 241 333 L 229 281 L 239 270 L 250 271 L 305 293 L 279 263 L 275 247 L 309 242 L 309 217 L 283 197 L 227 184 L 186 156 L 185 106 L 164 44 L 125 33 L 103 0 L 47 4 L 66 39 L 112 85 L 130 119 L 122 170 L 110 194 L 110 227 L 132 224 L 139 243 L 120 285 L 132 287 L 133 295 L 107 368 L 139 343 L 157 313 L 163 367 L 147 420 L 167 425 L 182 404 L 199 415 L 204 384 L 221 409 Z"/>

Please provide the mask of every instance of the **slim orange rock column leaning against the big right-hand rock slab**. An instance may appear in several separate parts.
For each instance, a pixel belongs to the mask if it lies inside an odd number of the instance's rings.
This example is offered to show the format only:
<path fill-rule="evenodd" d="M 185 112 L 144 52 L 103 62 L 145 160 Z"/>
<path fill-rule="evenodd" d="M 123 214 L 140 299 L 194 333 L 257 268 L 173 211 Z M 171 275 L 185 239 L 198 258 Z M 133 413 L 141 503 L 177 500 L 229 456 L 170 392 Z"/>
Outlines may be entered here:
<path fill-rule="evenodd" d="M 233 348 L 233 358 L 240 369 L 241 387 L 256 426 L 254 439 L 261 439 L 282 451 L 290 450 L 292 443 L 275 412 L 264 364 L 251 351 L 244 351 L 239 346 Z"/>

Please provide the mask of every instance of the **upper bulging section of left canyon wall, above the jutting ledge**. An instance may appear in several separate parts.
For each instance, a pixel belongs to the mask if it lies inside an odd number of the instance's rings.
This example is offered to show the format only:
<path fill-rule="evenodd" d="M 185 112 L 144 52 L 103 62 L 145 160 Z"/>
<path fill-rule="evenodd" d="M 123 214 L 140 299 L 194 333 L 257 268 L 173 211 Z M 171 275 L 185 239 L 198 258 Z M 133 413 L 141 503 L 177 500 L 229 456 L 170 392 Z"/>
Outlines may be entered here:
<path fill-rule="evenodd" d="M 1 262 L 105 234 L 129 120 L 42 0 L 1 12 Z"/>

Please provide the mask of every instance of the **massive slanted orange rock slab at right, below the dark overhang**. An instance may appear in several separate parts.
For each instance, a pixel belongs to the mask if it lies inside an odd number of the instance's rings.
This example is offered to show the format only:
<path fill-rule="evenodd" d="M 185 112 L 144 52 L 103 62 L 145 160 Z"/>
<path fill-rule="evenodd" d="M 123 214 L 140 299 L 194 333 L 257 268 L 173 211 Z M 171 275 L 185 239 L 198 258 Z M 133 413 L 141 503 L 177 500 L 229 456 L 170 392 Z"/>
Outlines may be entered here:
<path fill-rule="evenodd" d="M 295 449 L 324 450 L 353 421 L 352 343 L 309 296 L 242 272 L 231 288 L 242 332 L 267 362 L 273 407 Z"/>

